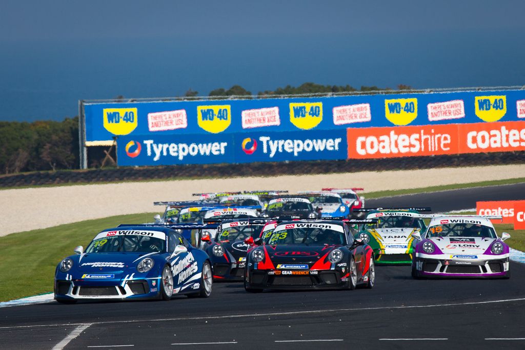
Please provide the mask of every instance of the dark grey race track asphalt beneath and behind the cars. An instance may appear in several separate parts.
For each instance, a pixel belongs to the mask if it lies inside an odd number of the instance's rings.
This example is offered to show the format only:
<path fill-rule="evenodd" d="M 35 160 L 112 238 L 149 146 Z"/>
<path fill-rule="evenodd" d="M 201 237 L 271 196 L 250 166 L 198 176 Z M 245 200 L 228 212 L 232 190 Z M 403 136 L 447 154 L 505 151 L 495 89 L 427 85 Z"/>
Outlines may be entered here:
<path fill-rule="evenodd" d="M 367 206 L 446 211 L 525 193 L 524 184 L 492 187 Z M 0 349 L 523 349 L 525 264 L 510 270 L 508 280 L 414 280 L 409 266 L 377 266 L 372 290 L 251 294 L 215 283 L 207 299 L 3 307 Z"/>

